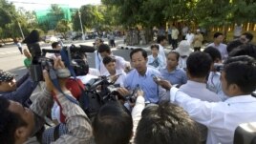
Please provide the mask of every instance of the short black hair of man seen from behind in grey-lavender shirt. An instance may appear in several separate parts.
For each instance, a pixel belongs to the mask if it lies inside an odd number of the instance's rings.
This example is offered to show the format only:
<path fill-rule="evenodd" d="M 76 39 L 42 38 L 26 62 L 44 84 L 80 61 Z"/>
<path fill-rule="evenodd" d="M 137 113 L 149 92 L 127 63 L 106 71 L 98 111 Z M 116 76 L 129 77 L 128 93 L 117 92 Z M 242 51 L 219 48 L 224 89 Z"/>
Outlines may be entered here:
<path fill-rule="evenodd" d="M 208 53 L 196 51 L 186 60 L 186 70 L 195 77 L 205 77 L 211 69 L 212 59 Z"/>

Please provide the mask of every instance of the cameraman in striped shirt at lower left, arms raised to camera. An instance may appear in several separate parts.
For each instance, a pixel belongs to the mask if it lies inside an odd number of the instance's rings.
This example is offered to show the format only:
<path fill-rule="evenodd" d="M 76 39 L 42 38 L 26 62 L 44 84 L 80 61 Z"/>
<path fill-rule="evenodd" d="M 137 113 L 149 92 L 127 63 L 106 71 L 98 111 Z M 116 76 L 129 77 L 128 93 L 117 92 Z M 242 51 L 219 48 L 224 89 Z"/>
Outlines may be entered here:
<path fill-rule="evenodd" d="M 64 69 L 64 64 L 60 59 L 55 60 L 54 69 L 56 71 Z M 92 143 L 93 133 L 87 115 L 75 103 L 67 99 L 64 94 L 71 95 L 66 89 L 66 79 L 59 79 L 60 89 L 64 93 L 59 93 L 54 88 L 48 72 L 44 71 L 46 89 L 43 90 L 32 103 L 30 109 L 22 107 L 19 103 L 0 98 L 0 141 L 6 144 L 22 144 L 30 136 L 38 132 L 44 125 L 44 116 L 50 113 L 53 107 L 53 96 L 63 108 L 66 115 L 68 134 L 61 135 L 54 143 Z"/>

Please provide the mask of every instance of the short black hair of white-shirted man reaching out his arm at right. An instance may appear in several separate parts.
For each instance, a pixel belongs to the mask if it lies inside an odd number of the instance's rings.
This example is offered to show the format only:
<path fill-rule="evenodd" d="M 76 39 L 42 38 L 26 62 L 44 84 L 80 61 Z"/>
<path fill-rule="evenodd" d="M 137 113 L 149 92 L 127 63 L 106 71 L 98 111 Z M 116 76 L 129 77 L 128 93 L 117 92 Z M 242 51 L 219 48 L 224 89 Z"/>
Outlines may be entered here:
<path fill-rule="evenodd" d="M 229 57 L 224 62 L 227 85 L 236 84 L 245 94 L 256 90 L 256 60 L 247 55 Z"/>

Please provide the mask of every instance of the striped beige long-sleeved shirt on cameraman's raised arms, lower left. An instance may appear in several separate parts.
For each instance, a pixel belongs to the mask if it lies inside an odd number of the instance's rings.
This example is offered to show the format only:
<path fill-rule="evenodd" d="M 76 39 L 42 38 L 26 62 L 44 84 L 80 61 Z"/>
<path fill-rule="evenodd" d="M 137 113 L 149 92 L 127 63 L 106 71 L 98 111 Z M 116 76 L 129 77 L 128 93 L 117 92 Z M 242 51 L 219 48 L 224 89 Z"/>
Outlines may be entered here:
<path fill-rule="evenodd" d="M 65 94 L 72 95 L 70 92 Z M 70 144 L 70 143 L 94 143 L 93 129 L 90 120 L 83 110 L 75 103 L 68 100 L 62 93 L 56 95 L 58 102 L 62 107 L 62 113 L 66 116 L 66 126 L 68 134 L 61 135 L 52 144 Z M 53 96 L 51 93 L 43 90 L 32 103 L 31 110 L 34 114 L 35 127 L 33 134 L 38 132 L 44 125 L 44 116 L 51 112 L 53 107 Z"/>

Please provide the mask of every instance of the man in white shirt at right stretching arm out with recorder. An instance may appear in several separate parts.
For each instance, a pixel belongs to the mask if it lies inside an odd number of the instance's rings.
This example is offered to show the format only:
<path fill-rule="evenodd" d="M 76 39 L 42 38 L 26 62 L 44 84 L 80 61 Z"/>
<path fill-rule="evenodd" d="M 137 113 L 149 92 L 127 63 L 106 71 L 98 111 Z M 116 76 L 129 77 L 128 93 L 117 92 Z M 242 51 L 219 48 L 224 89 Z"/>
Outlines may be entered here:
<path fill-rule="evenodd" d="M 249 56 L 227 59 L 221 76 L 223 91 L 230 98 L 224 102 L 206 102 L 171 88 L 171 102 L 180 105 L 192 119 L 208 128 L 207 144 L 233 143 L 239 124 L 256 121 L 256 60 Z M 164 83 L 164 84 L 163 84 Z"/>

